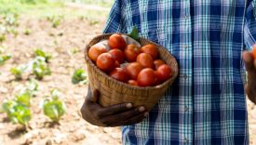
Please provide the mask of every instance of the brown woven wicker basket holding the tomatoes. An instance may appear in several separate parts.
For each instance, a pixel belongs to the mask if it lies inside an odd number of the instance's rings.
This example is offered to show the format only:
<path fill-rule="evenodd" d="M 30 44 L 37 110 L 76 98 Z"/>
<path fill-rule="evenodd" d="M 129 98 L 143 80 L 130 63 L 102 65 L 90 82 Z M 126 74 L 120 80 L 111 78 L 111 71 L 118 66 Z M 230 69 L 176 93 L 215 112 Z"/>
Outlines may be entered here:
<path fill-rule="evenodd" d="M 102 34 L 93 38 L 85 48 L 85 59 L 88 65 L 88 79 L 92 88 L 97 88 L 100 92 L 99 103 L 106 107 L 109 105 L 132 102 L 134 106 L 143 105 L 147 110 L 151 110 L 168 89 L 178 75 L 178 64 L 176 59 L 168 53 L 163 46 L 141 38 L 141 46 L 154 44 L 157 46 L 159 56 L 164 59 L 168 66 L 172 68 L 172 77 L 168 81 L 158 86 L 130 86 L 119 82 L 100 69 L 88 58 L 88 49 L 99 43 L 101 40 L 108 39 L 112 33 Z"/>

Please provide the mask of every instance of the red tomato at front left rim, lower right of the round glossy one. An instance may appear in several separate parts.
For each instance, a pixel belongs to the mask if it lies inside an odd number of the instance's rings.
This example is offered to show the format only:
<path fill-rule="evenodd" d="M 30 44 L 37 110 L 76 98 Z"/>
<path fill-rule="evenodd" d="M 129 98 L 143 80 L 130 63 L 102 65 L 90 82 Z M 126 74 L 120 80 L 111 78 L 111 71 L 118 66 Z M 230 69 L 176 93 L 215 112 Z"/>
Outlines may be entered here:
<path fill-rule="evenodd" d="M 122 68 L 115 68 L 109 75 L 115 78 L 118 81 L 127 83 L 128 82 L 128 74 Z"/>

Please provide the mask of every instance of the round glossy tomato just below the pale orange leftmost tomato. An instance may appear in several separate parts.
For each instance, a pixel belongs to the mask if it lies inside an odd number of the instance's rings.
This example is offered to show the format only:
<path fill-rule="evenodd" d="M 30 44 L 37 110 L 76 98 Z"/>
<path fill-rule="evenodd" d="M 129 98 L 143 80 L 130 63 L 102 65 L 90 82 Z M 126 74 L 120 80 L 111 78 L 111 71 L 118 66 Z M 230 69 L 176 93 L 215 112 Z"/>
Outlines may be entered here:
<path fill-rule="evenodd" d="M 110 72 L 115 68 L 115 59 L 109 53 L 102 53 L 96 60 L 96 64 L 103 72 Z"/>

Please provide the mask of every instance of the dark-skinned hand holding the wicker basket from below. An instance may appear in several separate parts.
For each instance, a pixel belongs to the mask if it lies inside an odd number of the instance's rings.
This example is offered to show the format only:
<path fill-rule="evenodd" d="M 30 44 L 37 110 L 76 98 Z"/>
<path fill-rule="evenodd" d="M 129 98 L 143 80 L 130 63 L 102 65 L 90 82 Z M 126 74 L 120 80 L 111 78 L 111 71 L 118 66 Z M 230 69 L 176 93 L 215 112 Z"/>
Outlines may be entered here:
<path fill-rule="evenodd" d="M 123 103 L 102 107 L 98 104 L 100 92 L 91 93 L 88 87 L 88 96 L 81 108 L 83 118 L 92 125 L 120 126 L 140 123 L 148 112 L 143 106 L 133 108 L 131 103 Z"/>

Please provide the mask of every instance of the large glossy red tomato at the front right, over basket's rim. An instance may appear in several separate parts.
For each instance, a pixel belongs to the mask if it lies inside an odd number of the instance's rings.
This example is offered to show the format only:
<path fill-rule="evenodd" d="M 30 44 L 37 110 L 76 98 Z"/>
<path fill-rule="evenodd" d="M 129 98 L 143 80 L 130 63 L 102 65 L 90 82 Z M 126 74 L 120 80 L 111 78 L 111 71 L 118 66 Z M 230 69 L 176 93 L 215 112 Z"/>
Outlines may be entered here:
<path fill-rule="evenodd" d="M 154 86 L 155 72 L 153 69 L 145 68 L 141 70 L 137 78 L 138 86 Z"/>

